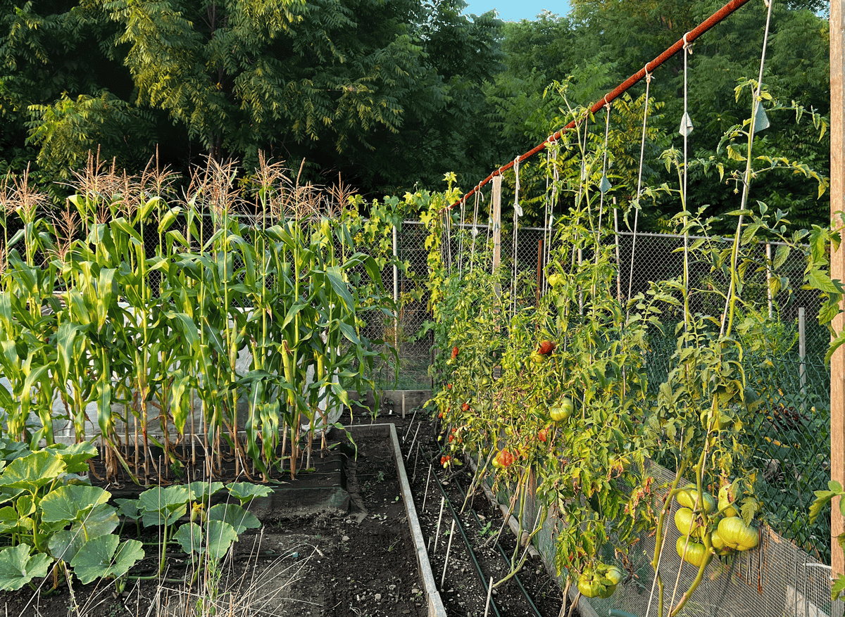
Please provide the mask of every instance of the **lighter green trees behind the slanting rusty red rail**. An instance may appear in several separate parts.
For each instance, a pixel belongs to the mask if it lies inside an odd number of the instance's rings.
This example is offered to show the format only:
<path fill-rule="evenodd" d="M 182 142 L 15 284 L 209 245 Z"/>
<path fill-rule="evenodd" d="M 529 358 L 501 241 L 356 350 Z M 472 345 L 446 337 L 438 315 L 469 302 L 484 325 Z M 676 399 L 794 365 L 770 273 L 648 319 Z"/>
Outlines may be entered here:
<path fill-rule="evenodd" d="M 521 146 L 538 143 L 560 128 L 555 118 L 558 102 L 548 95 L 543 98 L 553 78 L 569 77 L 566 97 L 570 105 L 589 106 L 683 39 L 684 33 L 722 4 L 719 0 L 574 0 L 572 12 L 565 18 L 543 15 L 534 22 L 508 24 L 503 42 L 507 70 L 488 87 L 488 97 L 500 114 L 502 132 L 521 139 Z M 808 110 L 827 111 L 829 26 L 826 19 L 814 13 L 819 8 L 816 5 L 812 0 L 774 5 L 763 76 L 764 87 L 772 97 L 765 103 L 770 111 L 774 101 L 786 107 L 793 107 L 794 101 Z M 699 168 L 690 176 L 690 208 L 709 205 L 710 213 L 718 215 L 737 207 L 733 185 L 726 187 L 719 181 L 717 164 L 729 174 L 739 169 L 739 161 L 732 160 L 727 150 L 717 149 L 717 145 L 723 133 L 750 117 L 749 90 L 739 98 L 734 90 L 744 78 L 757 78 L 765 19 L 765 4 L 749 3 L 693 45 L 688 72 L 689 108 L 695 125 L 689 140 L 690 158 L 710 164 L 706 171 Z M 638 84 L 630 95 L 637 99 L 644 89 L 644 83 Z M 683 54 L 655 69 L 651 96 L 662 109 L 660 116 L 651 117 L 650 126 L 659 128 L 671 140 L 668 145 L 680 149 Z M 796 125 L 794 111 L 771 111 L 771 128 L 760 133 L 758 151 L 800 161 L 826 176 L 828 142 L 819 138 L 820 131 L 806 118 Z M 632 127 L 624 125 L 617 128 L 628 133 L 632 147 L 638 145 L 640 131 L 626 131 Z M 662 182 L 678 186 L 674 170 L 661 170 L 654 158 L 646 160 L 649 164 L 653 173 L 646 174 L 648 186 L 657 187 Z M 630 181 L 627 184 L 630 186 Z M 805 226 L 826 217 L 828 203 L 824 196 L 818 197 L 817 188 L 815 182 L 789 170 L 774 171 L 765 181 L 755 181 L 751 203 L 760 200 L 782 208 L 793 225 Z M 679 211 L 680 202 L 677 193 L 663 192 L 649 207 L 651 216 L 641 219 L 641 225 L 661 229 Z"/>

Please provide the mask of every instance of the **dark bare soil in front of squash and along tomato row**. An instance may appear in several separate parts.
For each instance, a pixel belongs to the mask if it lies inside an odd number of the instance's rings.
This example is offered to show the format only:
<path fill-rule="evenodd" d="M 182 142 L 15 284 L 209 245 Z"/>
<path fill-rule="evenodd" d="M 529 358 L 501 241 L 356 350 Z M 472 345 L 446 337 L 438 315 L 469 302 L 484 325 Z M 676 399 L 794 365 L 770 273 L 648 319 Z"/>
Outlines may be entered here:
<path fill-rule="evenodd" d="M 489 543 L 502 522 L 501 514 L 477 495 L 472 505 L 478 519 L 470 511 L 461 515 L 461 524 L 474 547 L 473 559 L 457 528 L 454 534 L 448 533 L 451 522 L 448 511 L 444 512 L 435 551 L 433 536 L 442 495 L 428 478 L 428 470 L 446 481 L 444 489 L 456 508 L 463 501 L 456 485 L 466 489 L 470 478 L 463 471 L 450 474 L 439 465 L 438 427 L 423 410 L 413 419 L 412 414 L 406 419 L 400 415 L 384 412 L 373 419 L 357 413 L 354 421 L 393 422 L 397 426 L 438 585 L 448 550 L 441 587 L 447 614 L 481 617 L 487 589 L 474 562 L 485 581 L 491 577 L 498 581 L 509 571 L 499 549 Z M 423 617 L 428 607 L 389 443 L 384 438 L 368 437 L 359 439 L 357 448 L 357 457 L 348 457 L 345 463 L 346 490 L 351 498 L 348 512 L 264 516 L 263 528 L 243 533 L 221 566 L 200 571 L 193 585 L 189 579 L 194 571 L 183 555 L 168 558 L 165 580 L 153 576 L 158 557 L 155 539 L 151 539 L 153 545 L 146 548 L 148 557 L 130 572 L 149 574 L 150 580 L 130 580 L 123 589 L 117 589 L 113 582 L 85 586 L 74 582 L 71 587 L 61 583 L 54 591 L 52 578 L 36 580 L 35 590 L 24 587 L 18 592 L 0 593 L 0 609 L 9 617 Z M 503 533 L 500 542 L 510 556 L 514 550 L 512 534 Z M 560 588 L 539 562 L 529 561 L 520 580 L 536 609 L 516 582 L 510 581 L 493 590 L 493 603 L 501 617 L 558 615 Z M 497 613 L 490 609 L 489 614 Z"/>

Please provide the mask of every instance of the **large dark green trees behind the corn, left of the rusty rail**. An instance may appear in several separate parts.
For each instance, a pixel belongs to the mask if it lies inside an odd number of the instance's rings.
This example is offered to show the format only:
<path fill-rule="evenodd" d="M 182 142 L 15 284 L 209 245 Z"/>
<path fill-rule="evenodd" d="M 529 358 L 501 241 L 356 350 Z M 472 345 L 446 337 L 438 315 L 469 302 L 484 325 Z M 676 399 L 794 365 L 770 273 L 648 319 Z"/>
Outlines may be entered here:
<path fill-rule="evenodd" d="M 67 175 L 100 147 L 137 168 L 154 144 L 177 169 L 203 154 L 248 166 L 263 150 L 373 191 L 489 165 L 482 83 L 501 22 L 462 0 L 0 4 L 13 167 Z"/>

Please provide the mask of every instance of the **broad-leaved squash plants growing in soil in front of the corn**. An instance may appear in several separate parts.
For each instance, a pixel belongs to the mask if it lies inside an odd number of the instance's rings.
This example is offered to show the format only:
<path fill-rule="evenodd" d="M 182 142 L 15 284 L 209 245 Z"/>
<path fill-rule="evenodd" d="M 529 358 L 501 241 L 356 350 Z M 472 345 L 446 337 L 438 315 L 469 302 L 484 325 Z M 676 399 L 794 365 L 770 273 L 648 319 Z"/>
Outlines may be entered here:
<path fill-rule="evenodd" d="M 245 509 L 248 503 L 270 494 L 267 486 L 232 483 L 226 490 L 237 503 L 210 506 L 210 497 L 224 485 L 193 482 L 146 490 L 137 499 L 118 500 L 117 508 L 108 503 L 108 491 L 79 476 L 96 454 L 90 444 L 57 444 L 28 453 L 12 442 L 3 445 L 10 459 L 0 473 L 0 536 L 10 541 L 0 550 L 0 589 L 5 591 L 45 578 L 51 566 L 53 587 L 64 576 L 76 576 L 83 584 L 112 578 L 118 587 L 128 578 L 144 578 L 129 574 L 144 558 L 144 548 L 139 540 L 122 540 L 115 533 L 118 516 L 161 528 L 161 538 L 154 543 L 159 570 L 153 578 L 164 574 L 168 546 L 174 542 L 195 568 L 203 560 L 217 562 L 241 533 L 259 527 Z M 186 516 L 187 522 L 177 524 Z M 196 569 L 194 580 L 198 573 Z"/>

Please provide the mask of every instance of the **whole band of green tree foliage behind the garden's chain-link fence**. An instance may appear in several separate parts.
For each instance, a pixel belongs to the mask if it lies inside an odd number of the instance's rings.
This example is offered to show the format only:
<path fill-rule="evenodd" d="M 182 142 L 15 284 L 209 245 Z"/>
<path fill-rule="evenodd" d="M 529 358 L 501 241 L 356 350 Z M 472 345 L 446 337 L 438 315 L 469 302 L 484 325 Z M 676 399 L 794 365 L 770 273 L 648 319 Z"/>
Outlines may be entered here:
<path fill-rule="evenodd" d="M 463 0 L 0 0 L 0 172 L 33 161 L 36 176 L 62 181 L 97 149 L 129 170 L 156 149 L 176 170 L 206 155 L 251 168 L 263 152 L 373 197 L 439 188 L 449 171 L 472 187 L 562 126 L 567 106 L 600 99 L 721 5 L 573 0 L 568 15 L 504 23 L 464 14 Z M 772 126 L 758 142 L 821 174 L 828 142 L 796 110 L 828 112 L 824 8 L 774 5 L 763 75 Z M 757 77 L 765 19 L 764 3 L 748 3 L 689 57 L 690 149 L 728 171 L 737 162 L 718 145 L 749 117 L 751 88 L 736 89 Z M 683 73 L 679 54 L 651 84 L 651 183 L 671 176 L 659 154 L 679 145 Z M 619 102 L 613 127 L 623 203 L 643 90 Z M 695 205 L 733 209 L 710 169 L 690 178 Z M 798 176 L 772 172 L 755 191 L 795 225 L 826 214 L 826 198 Z M 659 228 L 678 204 L 649 208 Z"/>

